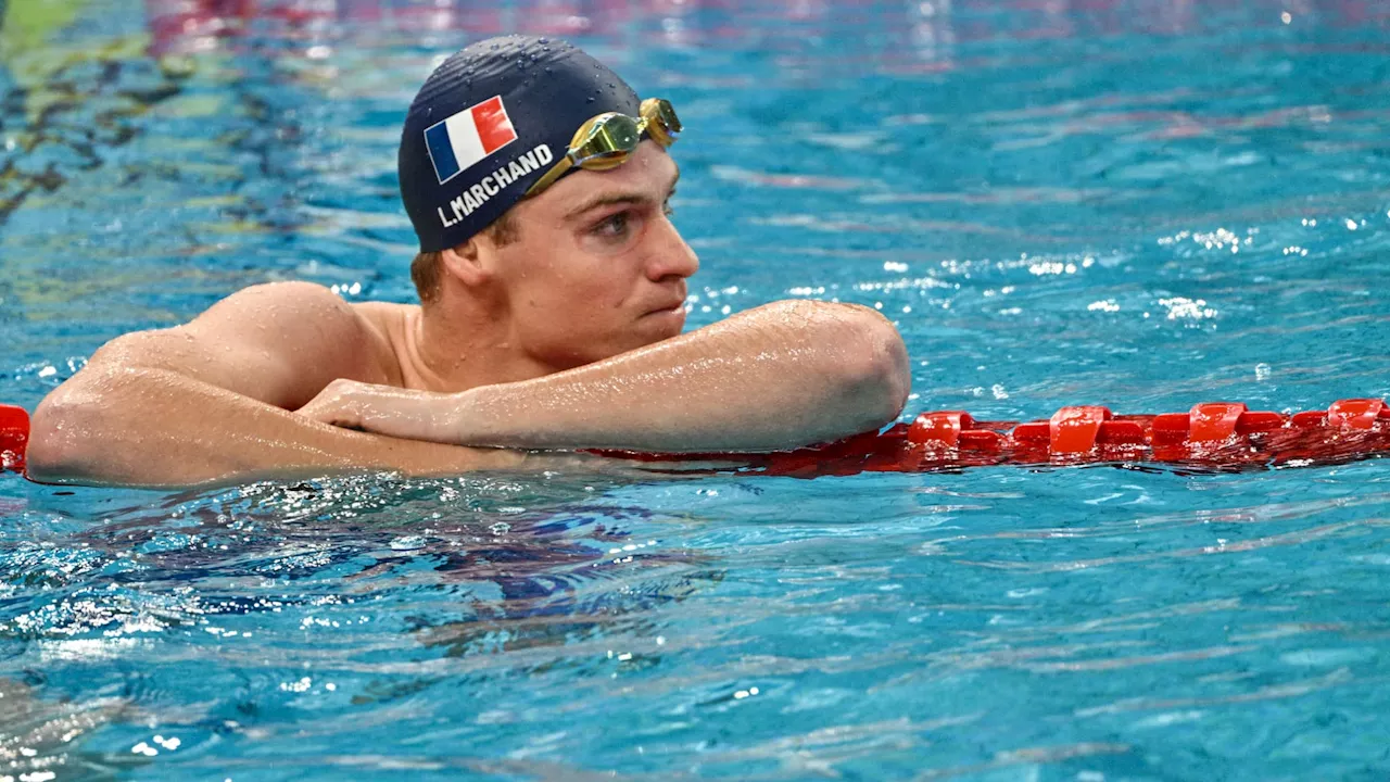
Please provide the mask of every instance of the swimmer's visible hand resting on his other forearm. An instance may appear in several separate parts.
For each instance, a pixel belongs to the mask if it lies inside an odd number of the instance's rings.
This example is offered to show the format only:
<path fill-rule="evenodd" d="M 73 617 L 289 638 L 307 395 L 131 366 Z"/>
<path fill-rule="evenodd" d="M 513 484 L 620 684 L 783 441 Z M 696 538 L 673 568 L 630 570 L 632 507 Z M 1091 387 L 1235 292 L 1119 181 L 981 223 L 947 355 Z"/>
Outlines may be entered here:
<path fill-rule="evenodd" d="M 439 431 L 446 430 L 453 417 L 450 398 L 452 394 L 334 380 L 296 412 L 341 429 L 406 440 L 438 440 Z"/>

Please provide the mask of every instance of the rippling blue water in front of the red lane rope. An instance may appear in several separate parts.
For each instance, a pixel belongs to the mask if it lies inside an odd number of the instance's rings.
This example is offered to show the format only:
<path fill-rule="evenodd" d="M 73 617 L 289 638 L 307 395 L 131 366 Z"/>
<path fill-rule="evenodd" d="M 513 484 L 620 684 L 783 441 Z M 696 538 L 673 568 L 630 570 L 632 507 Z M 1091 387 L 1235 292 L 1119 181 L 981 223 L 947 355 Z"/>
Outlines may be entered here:
<path fill-rule="evenodd" d="M 1383 470 L 1350 469 L 35 491 L 10 768 L 1187 778 L 1290 732 L 1352 768 L 1293 717 L 1383 714 Z"/>

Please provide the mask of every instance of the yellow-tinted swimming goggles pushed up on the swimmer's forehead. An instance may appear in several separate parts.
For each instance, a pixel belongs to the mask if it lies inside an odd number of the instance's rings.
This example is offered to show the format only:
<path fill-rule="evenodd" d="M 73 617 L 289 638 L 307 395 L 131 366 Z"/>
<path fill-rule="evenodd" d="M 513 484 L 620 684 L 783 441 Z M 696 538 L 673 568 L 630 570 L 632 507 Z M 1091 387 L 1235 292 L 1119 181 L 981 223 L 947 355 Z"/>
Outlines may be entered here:
<path fill-rule="evenodd" d="M 575 166 L 585 171 L 617 168 L 637 152 L 644 132 L 663 149 L 680 138 L 681 120 L 676 115 L 670 100 L 648 97 L 642 102 L 638 114 L 641 117 L 632 118 L 617 111 L 607 111 L 580 125 L 574 138 L 570 139 L 570 149 L 564 157 L 531 185 L 525 198 L 539 195 Z"/>

